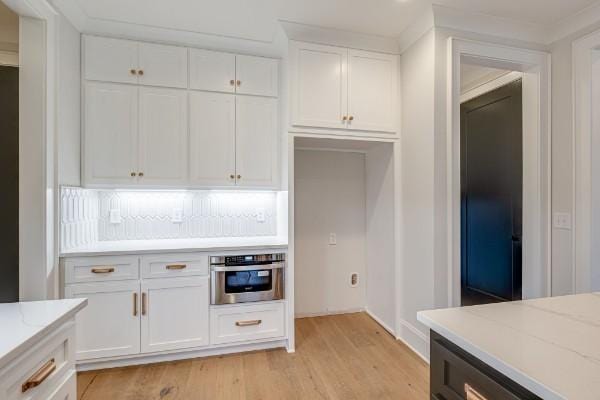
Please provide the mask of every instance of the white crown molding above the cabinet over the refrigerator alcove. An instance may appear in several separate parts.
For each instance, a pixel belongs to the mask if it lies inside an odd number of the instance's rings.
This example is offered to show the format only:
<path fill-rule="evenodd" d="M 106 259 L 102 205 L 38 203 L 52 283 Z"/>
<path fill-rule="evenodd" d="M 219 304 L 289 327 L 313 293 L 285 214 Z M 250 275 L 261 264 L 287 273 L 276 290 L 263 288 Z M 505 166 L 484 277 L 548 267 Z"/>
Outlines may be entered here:
<path fill-rule="evenodd" d="M 328 29 L 290 21 L 279 21 L 279 23 L 290 40 L 398 54 L 398 42 L 394 38 Z"/>

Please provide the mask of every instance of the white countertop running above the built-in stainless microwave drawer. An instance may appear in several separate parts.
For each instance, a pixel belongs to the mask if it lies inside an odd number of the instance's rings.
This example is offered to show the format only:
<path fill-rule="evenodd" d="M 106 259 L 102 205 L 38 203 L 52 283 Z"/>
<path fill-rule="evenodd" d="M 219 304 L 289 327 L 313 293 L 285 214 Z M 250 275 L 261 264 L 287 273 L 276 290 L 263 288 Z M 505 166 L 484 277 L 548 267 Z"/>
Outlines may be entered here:
<path fill-rule="evenodd" d="M 223 251 L 287 248 L 287 239 L 278 236 L 208 239 L 120 240 L 97 242 L 93 246 L 63 251 L 61 257 L 161 253 L 165 251 Z"/>

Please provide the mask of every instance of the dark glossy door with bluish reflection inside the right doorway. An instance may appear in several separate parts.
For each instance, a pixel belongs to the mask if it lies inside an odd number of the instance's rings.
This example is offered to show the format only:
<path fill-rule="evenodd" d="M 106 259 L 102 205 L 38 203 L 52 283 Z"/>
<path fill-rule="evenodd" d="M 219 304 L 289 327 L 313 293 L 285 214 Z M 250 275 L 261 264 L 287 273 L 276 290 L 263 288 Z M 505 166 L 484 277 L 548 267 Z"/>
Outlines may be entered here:
<path fill-rule="evenodd" d="M 522 85 L 461 105 L 461 300 L 521 299 Z"/>

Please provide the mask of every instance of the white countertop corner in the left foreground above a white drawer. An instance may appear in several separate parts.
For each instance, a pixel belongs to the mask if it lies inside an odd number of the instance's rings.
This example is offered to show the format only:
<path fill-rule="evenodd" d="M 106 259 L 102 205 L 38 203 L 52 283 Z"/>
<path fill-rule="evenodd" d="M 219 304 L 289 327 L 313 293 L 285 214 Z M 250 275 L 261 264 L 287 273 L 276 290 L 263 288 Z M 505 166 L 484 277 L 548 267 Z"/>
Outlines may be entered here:
<path fill-rule="evenodd" d="M 0 368 L 86 305 L 87 299 L 0 304 Z"/>

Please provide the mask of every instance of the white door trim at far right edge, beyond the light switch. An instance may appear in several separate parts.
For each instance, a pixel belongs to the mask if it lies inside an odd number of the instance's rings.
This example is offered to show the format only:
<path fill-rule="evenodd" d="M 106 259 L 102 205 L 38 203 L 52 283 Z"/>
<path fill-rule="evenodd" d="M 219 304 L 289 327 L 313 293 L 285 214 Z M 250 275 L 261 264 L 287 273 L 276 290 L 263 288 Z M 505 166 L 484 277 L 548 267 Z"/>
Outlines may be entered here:
<path fill-rule="evenodd" d="M 592 273 L 592 179 L 593 52 L 600 48 L 600 31 L 573 43 L 573 293 L 591 290 Z M 597 105 L 596 105 L 597 106 Z"/>

